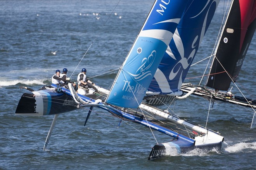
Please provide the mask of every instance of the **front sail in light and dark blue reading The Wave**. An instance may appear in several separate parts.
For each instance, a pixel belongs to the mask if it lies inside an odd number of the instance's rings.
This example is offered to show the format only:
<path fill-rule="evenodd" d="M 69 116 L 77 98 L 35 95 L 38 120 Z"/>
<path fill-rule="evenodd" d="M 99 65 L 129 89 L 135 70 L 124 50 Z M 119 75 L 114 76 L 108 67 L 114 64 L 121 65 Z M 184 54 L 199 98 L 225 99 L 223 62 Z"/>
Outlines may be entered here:
<path fill-rule="evenodd" d="M 136 108 L 170 44 L 184 10 L 192 0 L 156 0 L 119 70 L 108 104 Z"/>

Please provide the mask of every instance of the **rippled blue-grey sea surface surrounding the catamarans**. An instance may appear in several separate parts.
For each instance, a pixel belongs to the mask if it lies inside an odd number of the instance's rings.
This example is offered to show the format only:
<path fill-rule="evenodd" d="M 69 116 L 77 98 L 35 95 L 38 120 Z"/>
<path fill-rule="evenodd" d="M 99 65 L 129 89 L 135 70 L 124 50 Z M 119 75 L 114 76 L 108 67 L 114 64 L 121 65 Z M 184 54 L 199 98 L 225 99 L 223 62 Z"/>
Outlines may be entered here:
<path fill-rule="evenodd" d="M 15 116 L 21 95 L 28 92 L 19 86 L 37 90 L 50 85 L 55 70 L 63 68 L 76 80 L 86 68 L 94 83 L 109 88 L 116 75 L 112 70 L 123 63 L 154 0 L 118 2 L 1 0 L 0 170 L 255 170 L 256 129 L 250 129 L 254 110 L 218 102 L 209 111 L 207 127 L 225 137 L 228 146 L 219 152 L 194 151 L 148 161 L 156 144 L 150 130 L 132 122 L 122 122 L 116 128 L 119 120 L 100 109 L 95 109 L 98 115 L 92 114 L 85 127 L 87 109 L 60 114 L 43 151 L 54 116 Z M 224 2 L 221 0 L 216 10 L 194 63 L 213 51 Z M 57 51 L 56 55 L 51 51 Z M 254 35 L 237 81 L 250 99 L 255 99 L 255 55 Z M 185 82 L 198 84 L 207 62 L 192 66 Z M 232 92 L 241 96 L 235 85 L 231 86 Z M 190 96 L 177 100 L 174 110 L 178 116 L 205 126 L 208 108 L 208 100 Z M 158 143 L 170 139 L 154 134 Z"/>

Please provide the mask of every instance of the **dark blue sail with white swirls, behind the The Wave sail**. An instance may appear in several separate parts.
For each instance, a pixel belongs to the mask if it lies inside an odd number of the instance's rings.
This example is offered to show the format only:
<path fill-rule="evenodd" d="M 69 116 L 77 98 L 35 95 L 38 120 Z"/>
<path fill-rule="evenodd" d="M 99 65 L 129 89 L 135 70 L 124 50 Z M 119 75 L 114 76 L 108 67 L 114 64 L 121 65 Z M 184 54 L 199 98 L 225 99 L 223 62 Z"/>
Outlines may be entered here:
<path fill-rule="evenodd" d="M 220 0 L 194 0 L 187 6 L 148 90 L 180 89 Z"/>

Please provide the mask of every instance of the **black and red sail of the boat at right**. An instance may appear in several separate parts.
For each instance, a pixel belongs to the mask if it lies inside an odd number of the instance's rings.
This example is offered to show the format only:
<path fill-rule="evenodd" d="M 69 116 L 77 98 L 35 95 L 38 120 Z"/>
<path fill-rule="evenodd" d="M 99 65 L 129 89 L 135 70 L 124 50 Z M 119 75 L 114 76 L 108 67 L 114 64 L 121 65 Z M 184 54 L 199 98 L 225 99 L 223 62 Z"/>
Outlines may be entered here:
<path fill-rule="evenodd" d="M 216 90 L 238 78 L 256 28 L 256 0 L 234 0 L 227 17 L 206 84 Z"/>

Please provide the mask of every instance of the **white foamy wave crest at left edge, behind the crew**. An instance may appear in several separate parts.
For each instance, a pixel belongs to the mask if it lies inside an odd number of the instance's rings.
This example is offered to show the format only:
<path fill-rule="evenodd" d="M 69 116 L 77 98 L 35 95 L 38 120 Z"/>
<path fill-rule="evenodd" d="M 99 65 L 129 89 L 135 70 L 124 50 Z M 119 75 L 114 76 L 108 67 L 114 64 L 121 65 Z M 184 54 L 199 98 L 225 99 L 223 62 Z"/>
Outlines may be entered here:
<path fill-rule="evenodd" d="M 13 86 L 17 84 L 24 84 L 24 85 L 45 85 L 46 81 L 48 82 L 47 79 L 44 80 L 12 80 L 12 81 L 0 81 L 0 87 L 3 86 Z"/>

